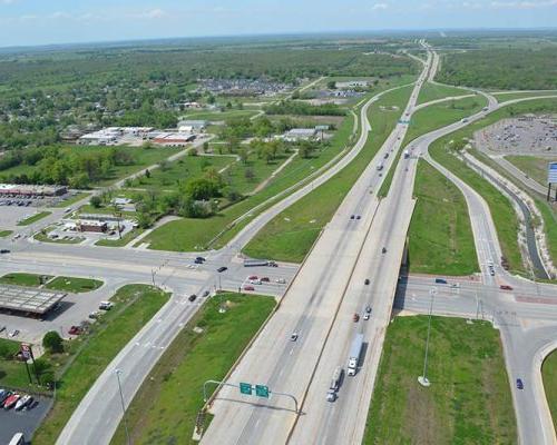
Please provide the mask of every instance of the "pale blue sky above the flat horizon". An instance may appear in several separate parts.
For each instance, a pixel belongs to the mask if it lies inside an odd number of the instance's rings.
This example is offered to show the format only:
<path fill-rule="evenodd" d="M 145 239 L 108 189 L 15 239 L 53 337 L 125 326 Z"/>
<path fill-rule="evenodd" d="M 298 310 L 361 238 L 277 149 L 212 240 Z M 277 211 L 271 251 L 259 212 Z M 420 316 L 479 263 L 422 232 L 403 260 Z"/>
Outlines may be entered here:
<path fill-rule="evenodd" d="M 0 47 L 557 26 L 557 0 L 0 0 Z"/>

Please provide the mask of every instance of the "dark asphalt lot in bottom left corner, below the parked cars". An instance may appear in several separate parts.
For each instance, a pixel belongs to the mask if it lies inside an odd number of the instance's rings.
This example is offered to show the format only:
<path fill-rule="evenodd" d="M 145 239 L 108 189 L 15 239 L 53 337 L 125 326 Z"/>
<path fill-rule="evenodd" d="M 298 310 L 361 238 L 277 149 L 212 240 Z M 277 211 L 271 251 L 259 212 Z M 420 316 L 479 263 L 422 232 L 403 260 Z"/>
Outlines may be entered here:
<path fill-rule="evenodd" d="M 36 406 L 30 411 L 23 412 L 0 409 L 0 444 L 8 444 L 16 433 L 23 433 L 29 443 L 32 433 L 50 409 L 52 399 L 40 397 L 33 405 Z"/>

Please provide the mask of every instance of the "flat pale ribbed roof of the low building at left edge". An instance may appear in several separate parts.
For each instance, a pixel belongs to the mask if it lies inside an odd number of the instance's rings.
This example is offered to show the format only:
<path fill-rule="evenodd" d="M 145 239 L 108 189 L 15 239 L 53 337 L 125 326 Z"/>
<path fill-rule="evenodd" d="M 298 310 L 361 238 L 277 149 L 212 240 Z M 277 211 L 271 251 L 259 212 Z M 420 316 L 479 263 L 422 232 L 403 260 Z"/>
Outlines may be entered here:
<path fill-rule="evenodd" d="M 0 285 L 0 309 L 45 314 L 67 294 L 12 285 Z"/>

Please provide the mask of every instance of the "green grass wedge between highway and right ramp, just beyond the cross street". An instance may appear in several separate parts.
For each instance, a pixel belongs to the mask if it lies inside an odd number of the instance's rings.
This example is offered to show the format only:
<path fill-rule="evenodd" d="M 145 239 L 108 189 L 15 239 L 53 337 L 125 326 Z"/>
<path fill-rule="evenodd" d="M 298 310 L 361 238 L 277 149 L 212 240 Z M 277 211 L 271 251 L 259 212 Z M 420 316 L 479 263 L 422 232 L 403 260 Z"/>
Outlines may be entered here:
<path fill-rule="evenodd" d="M 466 199 L 424 160 L 414 182 L 418 198 L 409 230 L 411 273 L 470 275 L 479 271 Z"/>

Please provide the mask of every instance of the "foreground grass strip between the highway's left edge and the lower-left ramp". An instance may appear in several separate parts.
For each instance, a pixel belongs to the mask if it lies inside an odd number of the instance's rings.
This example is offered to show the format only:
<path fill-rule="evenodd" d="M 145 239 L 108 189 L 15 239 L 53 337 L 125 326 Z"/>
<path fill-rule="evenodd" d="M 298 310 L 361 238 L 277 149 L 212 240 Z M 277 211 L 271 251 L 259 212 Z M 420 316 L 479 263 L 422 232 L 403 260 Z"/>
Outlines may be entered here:
<path fill-rule="evenodd" d="M 228 310 L 218 313 L 221 297 L 211 298 L 166 349 L 128 411 L 134 444 L 194 444 L 197 413 L 203 407 L 203 384 L 219 380 L 247 346 L 275 306 L 270 297 L 226 294 Z M 195 333 L 194 327 L 202 333 Z M 209 394 L 215 385 L 208 387 Z M 113 445 L 126 444 L 123 425 Z"/>

